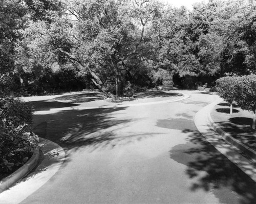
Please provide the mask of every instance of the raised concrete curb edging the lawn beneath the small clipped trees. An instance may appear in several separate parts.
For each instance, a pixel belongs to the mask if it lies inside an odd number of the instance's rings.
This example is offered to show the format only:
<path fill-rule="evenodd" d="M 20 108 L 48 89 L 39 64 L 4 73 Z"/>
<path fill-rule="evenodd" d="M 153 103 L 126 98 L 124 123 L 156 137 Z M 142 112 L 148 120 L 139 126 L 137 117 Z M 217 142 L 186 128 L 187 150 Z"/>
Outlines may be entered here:
<path fill-rule="evenodd" d="M 247 156 L 249 156 L 252 159 L 253 162 L 256 163 L 256 151 L 247 147 L 246 145 L 241 143 L 239 140 L 233 138 L 229 133 L 221 129 L 220 126 L 214 122 L 214 120 L 212 120 L 210 113 L 214 109 L 214 107 L 212 107 L 212 109 L 208 112 L 208 120 L 212 128 L 214 128 L 214 130 L 218 132 L 223 137 L 223 139 L 225 139 L 227 142 L 229 142 L 233 146 L 237 147 L 240 151 L 244 152 Z"/>

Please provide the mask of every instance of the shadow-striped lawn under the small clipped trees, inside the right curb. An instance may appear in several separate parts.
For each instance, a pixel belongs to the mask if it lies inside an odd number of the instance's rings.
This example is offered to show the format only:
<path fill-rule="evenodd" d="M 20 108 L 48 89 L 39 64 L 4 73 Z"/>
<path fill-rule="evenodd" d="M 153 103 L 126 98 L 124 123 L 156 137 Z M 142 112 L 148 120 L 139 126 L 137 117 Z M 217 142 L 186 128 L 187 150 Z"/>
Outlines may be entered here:
<path fill-rule="evenodd" d="M 221 129 L 229 133 L 247 147 L 256 151 L 256 132 L 251 129 L 252 112 L 233 105 L 233 114 L 229 114 L 228 103 L 222 102 L 211 111 L 211 118 Z"/>

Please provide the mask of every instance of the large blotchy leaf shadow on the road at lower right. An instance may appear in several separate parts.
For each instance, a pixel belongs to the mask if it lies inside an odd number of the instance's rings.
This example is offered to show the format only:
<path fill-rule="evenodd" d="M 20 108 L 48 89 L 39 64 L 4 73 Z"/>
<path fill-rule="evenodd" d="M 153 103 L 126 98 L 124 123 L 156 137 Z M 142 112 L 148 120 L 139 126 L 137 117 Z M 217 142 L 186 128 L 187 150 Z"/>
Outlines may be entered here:
<path fill-rule="evenodd" d="M 184 129 L 189 133 L 188 148 L 182 153 L 187 158 L 175 157 L 170 150 L 170 157 L 187 166 L 186 173 L 193 179 L 192 191 L 231 188 L 241 196 L 240 203 L 256 203 L 256 184 L 224 155 L 211 146 L 196 130 Z M 193 143 L 194 145 L 191 145 Z M 190 145 L 189 145 L 190 144 Z M 206 174 L 202 175 L 202 171 Z"/>

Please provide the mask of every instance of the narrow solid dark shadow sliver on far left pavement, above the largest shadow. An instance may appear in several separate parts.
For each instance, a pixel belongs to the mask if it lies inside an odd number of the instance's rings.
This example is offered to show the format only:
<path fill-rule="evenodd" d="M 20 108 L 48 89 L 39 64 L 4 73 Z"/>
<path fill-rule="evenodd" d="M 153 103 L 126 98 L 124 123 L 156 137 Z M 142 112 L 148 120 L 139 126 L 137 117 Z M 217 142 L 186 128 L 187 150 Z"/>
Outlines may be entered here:
<path fill-rule="evenodd" d="M 72 107 L 72 106 L 78 106 L 77 104 L 72 103 L 63 103 L 58 101 L 31 101 L 26 102 L 26 104 L 30 105 L 33 110 L 50 110 L 52 108 L 63 108 L 63 107 Z"/>

